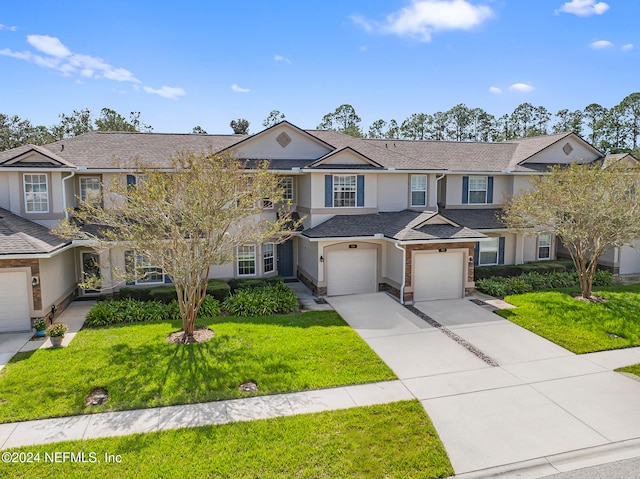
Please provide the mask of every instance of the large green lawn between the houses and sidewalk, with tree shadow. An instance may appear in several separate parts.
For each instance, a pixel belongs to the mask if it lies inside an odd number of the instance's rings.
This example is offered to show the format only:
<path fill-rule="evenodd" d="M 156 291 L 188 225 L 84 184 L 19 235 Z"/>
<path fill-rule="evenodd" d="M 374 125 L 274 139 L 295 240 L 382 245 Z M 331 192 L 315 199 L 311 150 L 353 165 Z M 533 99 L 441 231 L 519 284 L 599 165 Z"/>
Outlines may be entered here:
<path fill-rule="evenodd" d="M 200 321 L 202 344 L 165 341 L 179 322 L 84 329 L 66 348 L 16 355 L 0 371 L 0 422 L 187 404 L 395 379 L 334 311 Z M 104 387 L 109 400 L 87 407 Z M 255 395 L 253 393 L 252 395 Z"/>

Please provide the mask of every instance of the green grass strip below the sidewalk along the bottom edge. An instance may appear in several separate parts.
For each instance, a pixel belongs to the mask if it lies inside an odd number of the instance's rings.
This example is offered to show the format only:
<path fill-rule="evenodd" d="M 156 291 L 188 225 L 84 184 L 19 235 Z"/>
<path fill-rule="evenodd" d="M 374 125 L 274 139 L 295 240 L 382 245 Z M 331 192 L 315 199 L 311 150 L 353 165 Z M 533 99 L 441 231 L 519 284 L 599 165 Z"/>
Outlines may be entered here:
<path fill-rule="evenodd" d="M 453 475 L 418 401 L 221 426 L 29 446 L 40 462 L 0 462 L 0 477 L 436 478 Z M 45 462 L 45 452 L 101 463 Z M 105 463 L 104 455 L 120 455 Z"/>

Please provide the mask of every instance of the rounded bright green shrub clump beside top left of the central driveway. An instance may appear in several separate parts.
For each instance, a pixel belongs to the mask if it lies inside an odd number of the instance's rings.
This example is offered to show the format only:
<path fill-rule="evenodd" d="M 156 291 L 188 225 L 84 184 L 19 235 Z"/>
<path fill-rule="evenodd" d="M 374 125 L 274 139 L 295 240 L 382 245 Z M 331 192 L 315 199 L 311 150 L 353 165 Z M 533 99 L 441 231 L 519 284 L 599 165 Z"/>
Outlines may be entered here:
<path fill-rule="evenodd" d="M 224 301 L 224 309 L 234 316 L 268 316 L 298 309 L 298 297 L 284 283 L 254 289 L 239 289 Z"/>

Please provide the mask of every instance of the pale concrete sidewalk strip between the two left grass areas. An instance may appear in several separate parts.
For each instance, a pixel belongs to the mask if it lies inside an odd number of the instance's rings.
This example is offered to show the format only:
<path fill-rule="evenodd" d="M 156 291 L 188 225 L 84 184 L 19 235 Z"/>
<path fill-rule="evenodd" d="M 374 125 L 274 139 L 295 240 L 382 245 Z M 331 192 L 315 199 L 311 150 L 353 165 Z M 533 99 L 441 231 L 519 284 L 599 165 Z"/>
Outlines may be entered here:
<path fill-rule="evenodd" d="M 0 424 L 0 449 L 57 441 L 124 436 L 415 399 L 400 381 L 153 409 Z"/>

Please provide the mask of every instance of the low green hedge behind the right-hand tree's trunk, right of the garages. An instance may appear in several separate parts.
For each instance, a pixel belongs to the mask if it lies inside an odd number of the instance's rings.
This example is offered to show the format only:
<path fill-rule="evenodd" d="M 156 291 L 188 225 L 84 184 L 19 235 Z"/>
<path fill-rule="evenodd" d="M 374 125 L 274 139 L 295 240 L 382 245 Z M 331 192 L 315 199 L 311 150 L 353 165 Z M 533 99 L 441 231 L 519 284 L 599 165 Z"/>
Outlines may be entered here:
<path fill-rule="evenodd" d="M 510 294 L 523 294 L 545 289 L 572 288 L 579 286 L 578 273 L 560 272 L 541 274 L 531 272 L 507 278 L 486 278 L 476 281 L 478 291 L 504 298 Z M 609 271 L 598 270 L 593 281 L 594 286 L 613 285 L 613 275 Z"/>

